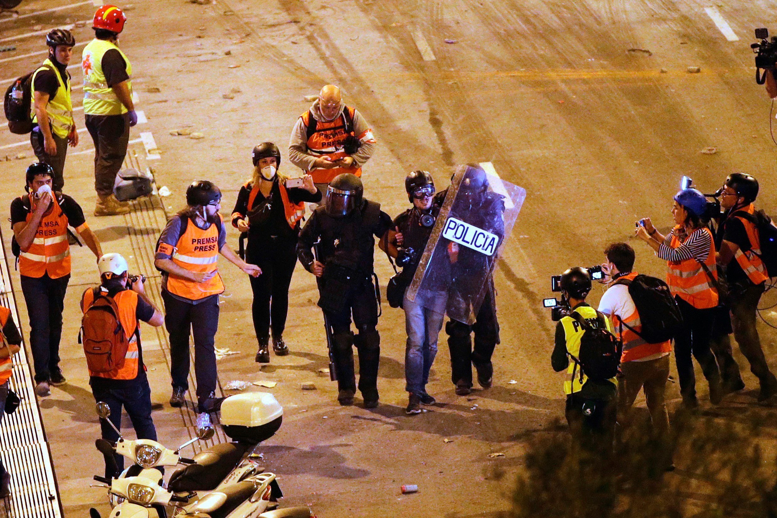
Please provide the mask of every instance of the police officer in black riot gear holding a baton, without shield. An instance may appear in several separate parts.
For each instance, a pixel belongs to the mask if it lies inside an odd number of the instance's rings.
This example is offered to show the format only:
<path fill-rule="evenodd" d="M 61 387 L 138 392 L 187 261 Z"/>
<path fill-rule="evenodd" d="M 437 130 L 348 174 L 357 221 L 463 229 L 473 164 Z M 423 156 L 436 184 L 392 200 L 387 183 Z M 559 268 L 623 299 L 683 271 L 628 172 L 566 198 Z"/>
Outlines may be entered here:
<path fill-rule="evenodd" d="M 340 405 L 352 405 L 356 394 L 354 352 L 359 353 L 359 390 L 365 408 L 378 406 L 380 335 L 378 301 L 373 284 L 375 237 L 393 227 L 380 204 L 364 200 L 361 180 L 350 173 L 336 176 L 326 189 L 326 201 L 302 228 L 297 256 L 308 272 L 319 277 L 319 307 L 331 327 Z M 318 256 L 314 256 L 313 247 Z M 357 334 L 350 331 L 351 315 Z"/>

